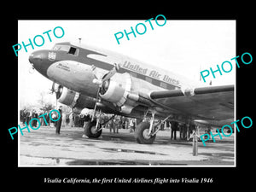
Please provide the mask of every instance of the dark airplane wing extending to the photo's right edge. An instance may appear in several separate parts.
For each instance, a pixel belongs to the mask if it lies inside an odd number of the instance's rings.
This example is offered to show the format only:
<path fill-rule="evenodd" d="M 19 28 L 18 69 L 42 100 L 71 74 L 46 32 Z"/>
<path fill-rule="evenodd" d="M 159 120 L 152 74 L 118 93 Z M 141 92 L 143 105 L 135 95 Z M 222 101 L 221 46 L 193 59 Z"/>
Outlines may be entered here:
<path fill-rule="evenodd" d="M 153 91 L 150 98 L 194 119 L 234 118 L 234 85 Z"/>

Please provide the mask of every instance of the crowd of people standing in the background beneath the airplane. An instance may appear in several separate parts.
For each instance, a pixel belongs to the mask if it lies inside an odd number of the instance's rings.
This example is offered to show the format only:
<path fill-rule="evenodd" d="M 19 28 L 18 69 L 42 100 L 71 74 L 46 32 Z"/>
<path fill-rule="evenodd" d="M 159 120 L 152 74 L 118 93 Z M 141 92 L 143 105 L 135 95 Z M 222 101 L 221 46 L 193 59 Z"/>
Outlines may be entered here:
<path fill-rule="evenodd" d="M 47 115 L 44 116 L 45 121 L 47 124 L 45 124 L 44 118 L 39 117 L 40 115 L 47 113 Z M 120 115 L 114 115 L 113 114 L 101 114 L 102 122 L 101 124 L 104 125 L 104 128 L 109 129 L 110 132 L 119 133 L 120 129 L 129 130 L 129 132 L 134 132 L 135 128 L 137 127 L 137 124 L 140 123 L 137 121 L 137 119 L 134 118 L 127 118 Z M 29 124 L 29 121 L 33 118 L 37 118 L 40 120 L 41 126 L 55 126 L 56 127 L 56 133 L 60 134 L 61 126 L 71 126 L 71 127 L 84 127 L 85 123 L 91 119 L 92 113 L 73 113 L 73 112 L 66 112 L 61 113 L 61 120 L 59 123 L 52 121 L 49 118 L 49 111 L 42 111 L 42 110 L 35 110 L 35 109 L 24 109 L 20 110 L 20 121 L 23 123 L 23 125 Z M 107 123 L 106 123 L 107 122 Z M 37 127 L 37 121 L 32 121 L 32 126 Z M 160 125 L 160 130 L 166 130 L 171 129 L 171 139 L 176 140 L 177 139 L 177 131 L 179 131 L 179 139 L 186 140 L 187 138 L 190 138 L 190 134 L 195 130 L 195 125 L 189 125 L 189 129 L 187 125 L 177 123 L 176 121 L 166 121 L 165 124 Z M 188 135 L 189 134 L 189 135 Z"/>

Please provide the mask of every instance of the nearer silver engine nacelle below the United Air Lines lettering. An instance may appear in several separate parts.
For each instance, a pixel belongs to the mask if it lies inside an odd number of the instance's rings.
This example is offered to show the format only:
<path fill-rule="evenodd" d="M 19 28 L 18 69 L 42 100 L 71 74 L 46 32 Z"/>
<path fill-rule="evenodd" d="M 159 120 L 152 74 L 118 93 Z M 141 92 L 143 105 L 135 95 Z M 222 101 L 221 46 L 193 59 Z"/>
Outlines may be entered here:
<path fill-rule="evenodd" d="M 131 75 L 129 73 L 115 73 L 111 79 L 103 82 L 100 96 L 108 102 L 113 102 L 120 108 L 120 112 L 128 114 L 136 106 L 136 101 L 127 97 L 128 94 L 136 96 L 131 89 Z"/>

